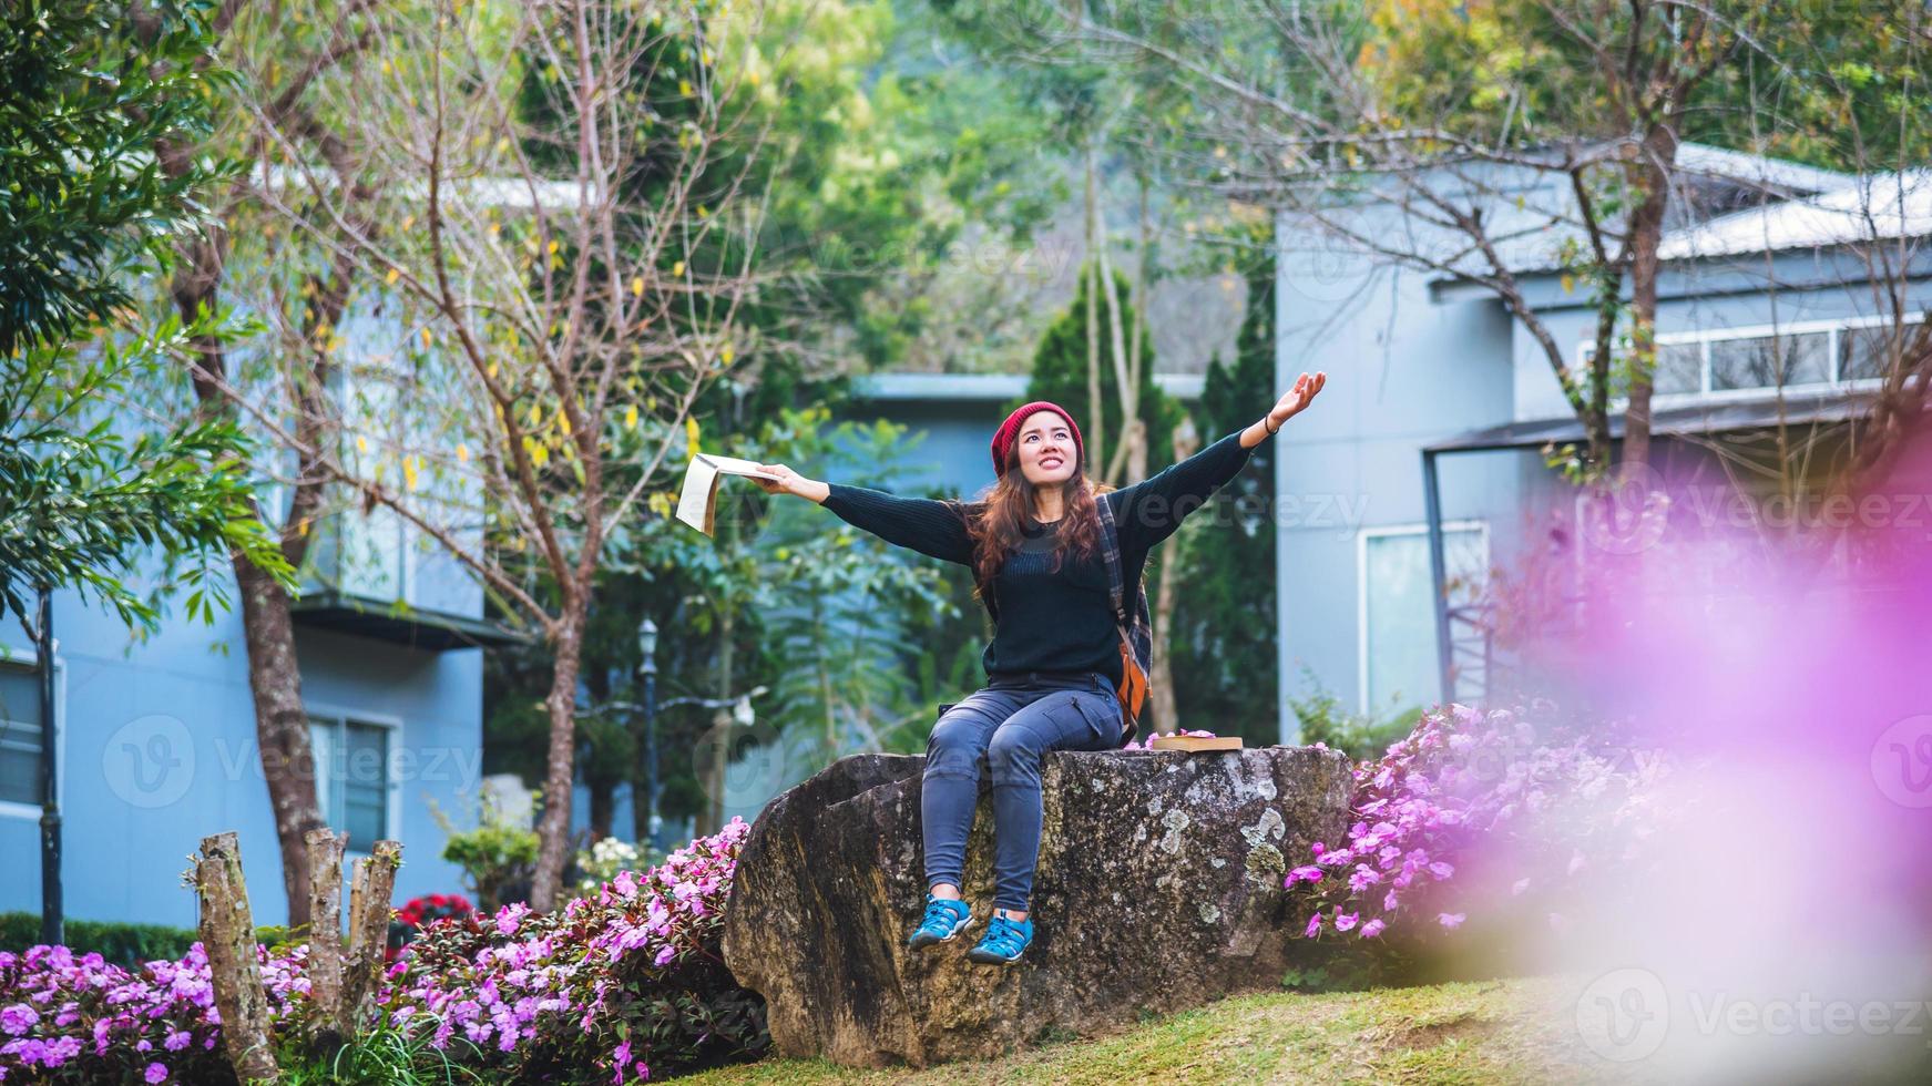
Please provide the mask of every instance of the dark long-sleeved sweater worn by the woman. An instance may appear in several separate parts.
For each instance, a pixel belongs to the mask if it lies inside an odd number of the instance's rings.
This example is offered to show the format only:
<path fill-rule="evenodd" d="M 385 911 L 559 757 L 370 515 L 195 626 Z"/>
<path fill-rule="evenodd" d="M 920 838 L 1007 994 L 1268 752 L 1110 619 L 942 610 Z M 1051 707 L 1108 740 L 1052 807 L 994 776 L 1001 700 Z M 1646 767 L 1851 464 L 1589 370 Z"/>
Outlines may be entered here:
<path fill-rule="evenodd" d="M 1113 520 L 1121 529 L 1128 607 L 1134 605 L 1134 586 L 1148 564 L 1148 551 L 1240 473 L 1250 452 L 1254 450 L 1240 446 L 1240 431 L 1235 431 L 1150 479 L 1101 495 L 1113 506 Z M 972 566 L 972 537 L 954 502 L 831 483 L 823 504 L 846 524 L 887 543 Z M 1097 553 L 1092 560 L 1068 553 L 1059 572 L 1053 572 L 1053 547 L 1063 522 L 1065 518 L 1036 526 L 1020 551 L 1001 566 L 989 609 L 995 618 L 993 642 L 981 663 L 989 676 L 1001 671 L 1099 671 L 1119 686 L 1121 636 L 1107 601 L 1107 562 Z"/>

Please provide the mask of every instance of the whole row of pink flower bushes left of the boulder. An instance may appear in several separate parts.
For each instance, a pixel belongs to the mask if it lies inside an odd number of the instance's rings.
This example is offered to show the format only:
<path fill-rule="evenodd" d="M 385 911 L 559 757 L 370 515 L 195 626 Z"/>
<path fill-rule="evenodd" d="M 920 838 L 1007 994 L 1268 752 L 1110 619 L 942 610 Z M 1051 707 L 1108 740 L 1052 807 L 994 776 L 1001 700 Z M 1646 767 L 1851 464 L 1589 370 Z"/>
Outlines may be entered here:
<path fill-rule="evenodd" d="M 456 897 L 439 904 L 442 895 L 408 902 L 421 933 L 384 972 L 381 1020 L 352 1043 L 379 1038 L 384 1057 L 402 1053 L 437 1080 L 456 1069 L 471 1080 L 556 1084 L 639 1082 L 653 1069 L 763 1053 L 763 1001 L 721 957 L 748 831 L 732 819 L 549 916 L 526 904 L 479 916 Z M 315 1022 L 307 945 L 257 947 L 257 960 L 276 1045 L 305 1051 Z M 201 943 L 137 970 L 66 947 L 0 953 L 0 1082 L 232 1084 Z"/>

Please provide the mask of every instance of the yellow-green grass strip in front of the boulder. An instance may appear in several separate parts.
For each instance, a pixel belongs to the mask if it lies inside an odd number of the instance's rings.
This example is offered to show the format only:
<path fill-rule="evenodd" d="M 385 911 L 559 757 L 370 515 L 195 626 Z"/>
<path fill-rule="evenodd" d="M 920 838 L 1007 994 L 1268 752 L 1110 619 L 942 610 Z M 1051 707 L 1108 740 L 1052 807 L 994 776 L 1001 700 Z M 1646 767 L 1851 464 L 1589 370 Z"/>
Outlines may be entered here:
<path fill-rule="evenodd" d="M 1555 980 L 1223 999 L 1171 1018 L 999 1061 L 860 1071 L 763 1059 L 680 1078 L 690 1086 L 931 1086 L 1053 1082 L 1577 1082 L 1607 1065 L 1578 1055 Z"/>

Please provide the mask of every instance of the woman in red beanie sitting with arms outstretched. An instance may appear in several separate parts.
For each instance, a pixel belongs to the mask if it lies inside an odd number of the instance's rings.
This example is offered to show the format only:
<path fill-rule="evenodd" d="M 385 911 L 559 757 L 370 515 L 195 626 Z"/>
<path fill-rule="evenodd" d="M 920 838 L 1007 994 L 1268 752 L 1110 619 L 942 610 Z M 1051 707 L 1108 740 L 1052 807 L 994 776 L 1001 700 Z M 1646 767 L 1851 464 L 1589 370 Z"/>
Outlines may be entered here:
<path fill-rule="evenodd" d="M 966 957 L 1012 964 L 1034 941 L 1026 918 L 1039 858 L 1039 761 L 1049 750 L 1113 750 L 1126 742 L 1121 634 L 1107 591 L 1095 502 L 1109 502 L 1132 599 L 1142 566 L 1161 539 L 1248 462 L 1248 452 L 1306 408 L 1325 373 L 1294 381 L 1262 419 L 1223 437 L 1151 479 L 1099 493 L 1082 472 L 1086 448 L 1072 415 L 1036 400 L 993 433 L 999 481 L 972 504 L 900 499 L 821 483 L 784 464 L 763 464 L 788 493 L 837 512 L 887 543 L 972 566 L 993 616 L 987 686 L 939 719 L 925 744 L 920 819 L 925 837 L 925 918 L 914 949 L 951 943 L 972 910 L 960 900 L 966 833 L 980 796 L 980 756 L 993 777 L 995 893 L 985 937 Z"/>

